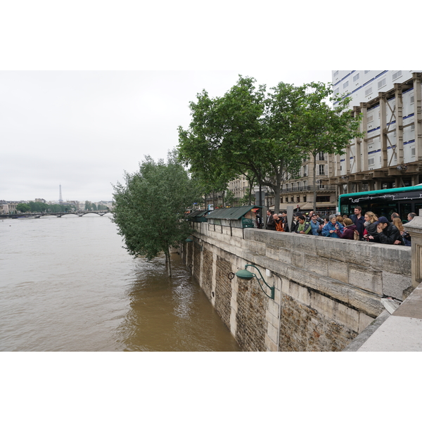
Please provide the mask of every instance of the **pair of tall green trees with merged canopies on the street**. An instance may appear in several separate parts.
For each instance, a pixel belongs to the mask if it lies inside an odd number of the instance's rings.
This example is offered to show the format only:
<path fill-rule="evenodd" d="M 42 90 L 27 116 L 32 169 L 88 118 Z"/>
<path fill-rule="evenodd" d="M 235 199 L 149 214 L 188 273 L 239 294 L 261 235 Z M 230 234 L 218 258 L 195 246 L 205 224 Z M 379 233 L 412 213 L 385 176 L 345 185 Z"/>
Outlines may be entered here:
<path fill-rule="evenodd" d="M 347 98 L 335 108 L 325 102 L 333 94 L 331 84 L 280 82 L 267 93 L 255 82 L 239 76 L 222 97 L 198 94 L 189 103 L 188 129 L 179 127 L 179 157 L 210 189 L 224 190 L 239 174 L 252 173 L 274 192 L 279 212 L 283 183 L 298 177 L 302 159 L 345 148 L 357 136 L 359 118 L 345 110 Z"/>

